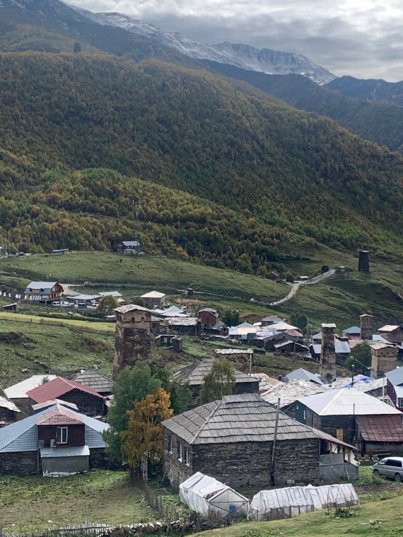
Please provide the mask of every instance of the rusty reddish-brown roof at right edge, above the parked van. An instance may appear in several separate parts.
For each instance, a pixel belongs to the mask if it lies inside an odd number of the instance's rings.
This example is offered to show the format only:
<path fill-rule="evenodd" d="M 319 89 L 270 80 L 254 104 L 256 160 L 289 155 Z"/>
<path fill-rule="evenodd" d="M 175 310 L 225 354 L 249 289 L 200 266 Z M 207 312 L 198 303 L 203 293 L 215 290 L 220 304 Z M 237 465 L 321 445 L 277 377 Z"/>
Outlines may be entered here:
<path fill-rule="evenodd" d="M 361 415 L 357 420 L 361 436 L 368 442 L 403 442 L 400 415 Z"/>

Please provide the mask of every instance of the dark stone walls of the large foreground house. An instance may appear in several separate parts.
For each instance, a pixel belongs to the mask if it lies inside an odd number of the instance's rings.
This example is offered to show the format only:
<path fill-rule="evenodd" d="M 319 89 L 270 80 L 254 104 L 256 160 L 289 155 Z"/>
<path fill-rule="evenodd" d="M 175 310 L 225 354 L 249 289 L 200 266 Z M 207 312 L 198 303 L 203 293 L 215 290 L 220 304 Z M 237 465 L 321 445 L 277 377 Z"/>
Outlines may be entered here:
<path fill-rule="evenodd" d="M 271 482 L 272 442 L 238 442 L 189 446 L 173 436 L 170 453 L 170 433 L 164 430 L 164 466 L 170 482 L 178 487 L 183 480 L 200 471 L 227 485 L 267 487 Z M 182 461 L 179 457 L 182 444 Z M 189 449 L 189 466 L 183 454 Z M 274 461 L 276 485 L 287 480 L 309 483 L 319 478 L 320 439 L 279 441 Z"/>

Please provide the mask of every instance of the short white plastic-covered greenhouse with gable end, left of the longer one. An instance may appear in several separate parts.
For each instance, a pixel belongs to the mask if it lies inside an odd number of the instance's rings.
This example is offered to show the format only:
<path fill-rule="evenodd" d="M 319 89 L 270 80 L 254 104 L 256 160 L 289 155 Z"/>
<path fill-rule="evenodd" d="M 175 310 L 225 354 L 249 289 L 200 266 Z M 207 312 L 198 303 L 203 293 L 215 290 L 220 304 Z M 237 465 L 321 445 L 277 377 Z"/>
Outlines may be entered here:
<path fill-rule="evenodd" d="M 211 512 L 221 517 L 246 515 L 249 507 L 245 496 L 202 472 L 194 473 L 181 483 L 179 498 L 190 509 L 206 516 Z"/>

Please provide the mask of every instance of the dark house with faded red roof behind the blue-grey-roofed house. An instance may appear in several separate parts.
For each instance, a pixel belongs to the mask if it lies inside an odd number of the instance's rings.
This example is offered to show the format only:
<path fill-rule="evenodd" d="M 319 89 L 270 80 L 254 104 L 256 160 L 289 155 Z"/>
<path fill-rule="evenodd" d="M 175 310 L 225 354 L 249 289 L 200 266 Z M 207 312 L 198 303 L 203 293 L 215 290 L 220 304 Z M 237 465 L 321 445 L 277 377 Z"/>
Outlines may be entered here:
<path fill-rule="evenodd" d="M 89 386 L 73 380 L 56 377 L 33 390 L 27 392 L 32 407 L 35 403 L 45 403 L 52 399 L 62 399 L 75 403 L 78 410 L 88 415 L 104 415 L 106 413 L 105 397 Z"/>

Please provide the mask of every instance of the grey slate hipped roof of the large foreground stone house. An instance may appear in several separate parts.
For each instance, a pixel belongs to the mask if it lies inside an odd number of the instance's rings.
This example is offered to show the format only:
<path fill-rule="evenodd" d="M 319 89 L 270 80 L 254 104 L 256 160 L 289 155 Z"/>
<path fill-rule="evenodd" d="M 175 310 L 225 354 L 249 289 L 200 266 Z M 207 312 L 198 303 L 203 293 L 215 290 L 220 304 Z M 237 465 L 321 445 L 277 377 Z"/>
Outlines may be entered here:
<path fill-rule="evenodd" d="M 271 442 L 274 438 L 276 408 L 259 394 L 223 396 L 163 421 L 163 426 L 189 444 L 230 442 Z M 277 439 L 313 439 L 311 427 L 279 413 Z"/>

